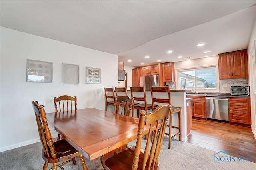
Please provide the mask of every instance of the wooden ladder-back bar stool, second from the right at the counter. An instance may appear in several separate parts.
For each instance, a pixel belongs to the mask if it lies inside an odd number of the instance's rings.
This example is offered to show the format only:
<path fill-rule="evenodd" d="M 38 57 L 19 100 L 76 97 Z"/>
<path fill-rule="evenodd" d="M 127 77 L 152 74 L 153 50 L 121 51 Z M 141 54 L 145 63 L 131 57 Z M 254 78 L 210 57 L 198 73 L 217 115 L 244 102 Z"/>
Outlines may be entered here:
<path fill-rule="evenodd" d="M 131 97 L 134 98 L 134 107 L 132 110 L 132 116 L 134 117 L 134 109 L 137 109 L 137 118 L 139 117 L 139 110 L 148 110 L 152 109 L 152 104 L 147 103 L 146 92 L 144 86 L 142 87 L 131 87 Z M 142 102 L 135 104 L 135 101 Z M 157 104 L 154 105 L 154 108 L 157 107 Z"/>

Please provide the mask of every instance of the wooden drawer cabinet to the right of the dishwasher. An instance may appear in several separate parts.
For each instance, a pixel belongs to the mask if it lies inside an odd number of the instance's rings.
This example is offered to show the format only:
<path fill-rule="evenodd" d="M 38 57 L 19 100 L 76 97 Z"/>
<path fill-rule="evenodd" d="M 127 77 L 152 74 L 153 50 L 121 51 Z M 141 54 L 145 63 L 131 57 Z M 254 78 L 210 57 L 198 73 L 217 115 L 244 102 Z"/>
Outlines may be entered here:
<path fill-rule="evenodd" d="M 230 123 L 251 124 L 250 98 L 228 98 Z"/>

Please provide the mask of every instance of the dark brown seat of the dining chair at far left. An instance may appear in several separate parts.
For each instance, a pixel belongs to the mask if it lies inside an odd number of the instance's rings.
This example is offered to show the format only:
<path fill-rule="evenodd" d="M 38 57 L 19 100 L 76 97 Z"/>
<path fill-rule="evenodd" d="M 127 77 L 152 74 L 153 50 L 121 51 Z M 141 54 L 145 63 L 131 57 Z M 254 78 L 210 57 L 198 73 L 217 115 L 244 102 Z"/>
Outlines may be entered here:
<path fill-rule="evenodd" d="M 56 142 L 54 142 L 54 147 L 56 151 L 56 158 L 49 158 L 46 154 L 44 154 L 44 149 L 42 150 L 42 157 L 45 162 L 58 163 L 61 162 L 62 160 L 66 160 L 67 156 L 74 158 L 80 155 L 80 153 L 64 139 L 57 140 Z"/>

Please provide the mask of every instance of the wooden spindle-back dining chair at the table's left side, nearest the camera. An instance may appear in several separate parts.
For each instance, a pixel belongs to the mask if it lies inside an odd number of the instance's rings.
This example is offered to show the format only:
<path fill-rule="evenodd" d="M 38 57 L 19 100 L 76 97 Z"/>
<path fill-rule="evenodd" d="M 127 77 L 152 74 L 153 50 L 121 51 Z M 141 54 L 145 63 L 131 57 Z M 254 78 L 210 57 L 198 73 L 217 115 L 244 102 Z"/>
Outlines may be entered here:
<path fill-rule="evenodd" d="M 76 156 L 80 157 L 83 170 L 87 170 L 86 164 L 84 162 L 84 156 L 73 146 L 71 146 L 65 139 L 57 140 L 56 142 L 52 141 L 52 135 L 48 127 L 44 106 L 39 106 L 38 102 L 34 101 L 32 101 L 32 106 L 36 115 L 39 137 L 43 146 L 42 158 L 45 161 L 43 170 L 47 169 L 48 163 L 53 164 L 52 170 L 57 170 L 58 167 L 64 169 L 62 165 L 70 161 L 76 165 Z"/>

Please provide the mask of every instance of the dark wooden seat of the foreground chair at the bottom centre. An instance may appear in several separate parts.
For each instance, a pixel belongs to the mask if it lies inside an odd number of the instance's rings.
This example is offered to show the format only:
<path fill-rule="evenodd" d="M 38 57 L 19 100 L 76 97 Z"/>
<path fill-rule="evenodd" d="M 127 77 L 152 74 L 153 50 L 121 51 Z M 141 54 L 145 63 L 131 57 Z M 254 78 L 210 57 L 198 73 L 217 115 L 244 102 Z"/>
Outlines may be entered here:
<path fill-rule="evenodd" d="M 124 150 L 122 152 L 119 152 L 118 154 L 114 155 L 111 158 L 108 158 L 105 161 L 106 166 L 110 170 L 131 170 L 132 169 L 132 162 L 134 157 L 134 150 L 135 146 L 132 146 L 131 148 Z M 139 164 L 137 170 L 142 170 L 142 162 L 144 157 L 144 150 L 140 149 L 140 156 L 139 156 Z M 154 169 L 151 170 L 157 170 L 159 168 L 159 161 L 157 160 L 156 166 Z M 146 164 L 146 170 L 148 169 L 148 164 Z"/>

